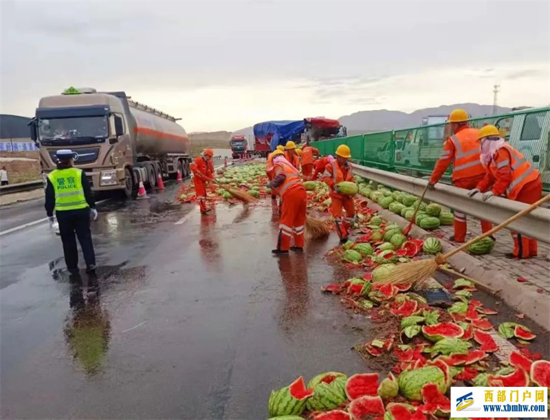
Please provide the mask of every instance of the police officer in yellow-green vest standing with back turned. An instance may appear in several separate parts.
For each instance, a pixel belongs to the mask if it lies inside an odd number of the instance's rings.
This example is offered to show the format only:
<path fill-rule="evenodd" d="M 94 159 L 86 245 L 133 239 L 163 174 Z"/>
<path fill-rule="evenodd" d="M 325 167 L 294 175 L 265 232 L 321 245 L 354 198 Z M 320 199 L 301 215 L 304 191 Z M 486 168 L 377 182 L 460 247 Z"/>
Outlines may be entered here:
<path fill-rule="evenodd" d="M 48 221 L 52 227 L 55 209 L 59 233 L 63 242 L 65 264 L 67 264 L 69 273 L 78 274 L 76 237 L 82 247 L 86 271 L 91 273 L 96 270 L 96 254 L 94 253 L 94 244 L 91 242 L 90 231 L 90 220 L 98 218 L 96 202 L 85 172 L 73 167 L 73 151 L 58 150 L 56 156 L 57 169 L 47 176 L 44 207 Z"/>

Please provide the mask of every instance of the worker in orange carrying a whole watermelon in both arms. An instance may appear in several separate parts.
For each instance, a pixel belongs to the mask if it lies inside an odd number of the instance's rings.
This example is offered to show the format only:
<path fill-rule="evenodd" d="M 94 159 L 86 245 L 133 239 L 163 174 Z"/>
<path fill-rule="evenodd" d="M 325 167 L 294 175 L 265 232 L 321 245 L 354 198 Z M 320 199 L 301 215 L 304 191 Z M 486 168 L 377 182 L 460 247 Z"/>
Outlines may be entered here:
<path fill-rule="evenodd" d="M 349 147 L 347 145 L 338 146 L 336 149 L 336 160 L 327 164 L 325 173 L 322 175 L 322 180 L 331 189 L 331 214 L 336 224 L 336 232 L 342 243 L 347 242 L 348 230 L 355 217 L 353 197 L 344 196 L 338 191 L 338 184 L 340 182 L 354 182 L 353 175 L 351 174 L 351 164 L 348 162 L 349 158 L 351 158 Z M 342 216 L 342 208 L 346 210 L 345 218 Z"/>

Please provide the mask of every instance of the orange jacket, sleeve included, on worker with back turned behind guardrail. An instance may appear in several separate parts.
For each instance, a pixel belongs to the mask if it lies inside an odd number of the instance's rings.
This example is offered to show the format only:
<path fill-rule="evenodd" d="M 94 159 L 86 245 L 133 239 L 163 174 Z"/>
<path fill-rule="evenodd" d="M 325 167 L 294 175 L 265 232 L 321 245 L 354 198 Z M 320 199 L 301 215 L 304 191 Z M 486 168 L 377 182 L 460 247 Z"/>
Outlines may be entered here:
<path fill-rule="evenodd" d="M 451 162 L 453 181 L 483 175 L 485 168 L 479 160 L 481 147 L 477 138 L 478 129 L 470 127 L 461 128 L 450 136 L 443 145 L 441 158 L 434 167 L 430 182 L 438 182 Z"/>

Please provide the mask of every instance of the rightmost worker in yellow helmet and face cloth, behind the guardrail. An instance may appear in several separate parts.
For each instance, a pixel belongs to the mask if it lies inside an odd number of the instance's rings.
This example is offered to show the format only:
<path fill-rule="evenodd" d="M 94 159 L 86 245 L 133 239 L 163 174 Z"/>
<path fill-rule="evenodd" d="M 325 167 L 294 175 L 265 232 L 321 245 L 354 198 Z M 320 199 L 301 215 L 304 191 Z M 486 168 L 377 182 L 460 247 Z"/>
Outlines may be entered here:
<path fill-rule="evenodd" d="M 481 162 L 485 165 L 485 178 L 471 189 L 468 196 L 484 193 L 483 201 L 492 196 L 533 204 L 542 196 L 540 173 L 514 147 L 500 136 L 498 128 L 486 125 L 478 134 L 481 142 Z M 520 233 L 511 232 L 514 252 L 507 258 L 532 258 L 538 255 L 537 241 Z"/>

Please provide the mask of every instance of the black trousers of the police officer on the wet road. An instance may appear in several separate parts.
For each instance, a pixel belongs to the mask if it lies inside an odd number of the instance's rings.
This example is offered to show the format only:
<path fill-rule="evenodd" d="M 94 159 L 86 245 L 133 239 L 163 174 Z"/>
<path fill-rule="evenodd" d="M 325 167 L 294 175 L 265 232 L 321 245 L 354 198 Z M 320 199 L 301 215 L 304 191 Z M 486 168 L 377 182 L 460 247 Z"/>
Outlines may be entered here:
<path fill-rule="evenodd" d="M 56 211 L 59 233 L 63 242 L 63 254 L 67 270 L 78 271 L 76 238 L 82 247 L 86 266 L 96 265 L 96 253 L 91 242 L 90 209 Z"/>

